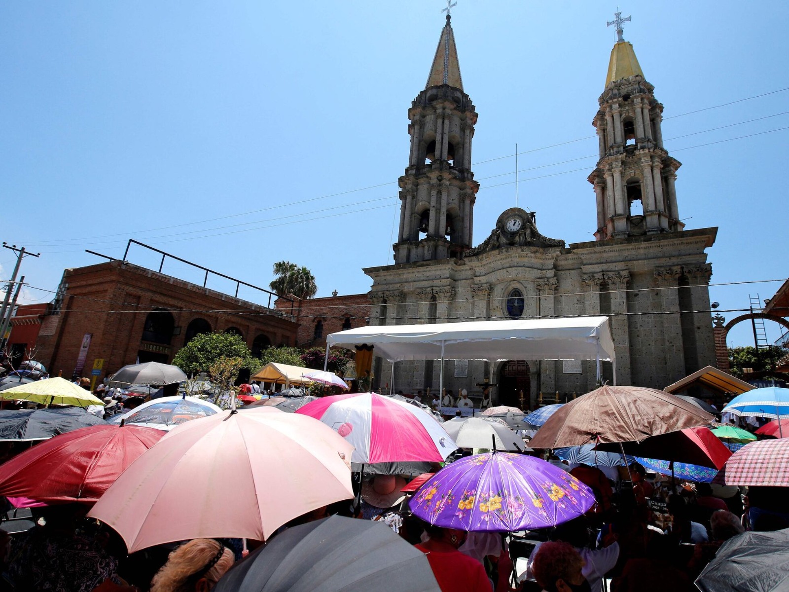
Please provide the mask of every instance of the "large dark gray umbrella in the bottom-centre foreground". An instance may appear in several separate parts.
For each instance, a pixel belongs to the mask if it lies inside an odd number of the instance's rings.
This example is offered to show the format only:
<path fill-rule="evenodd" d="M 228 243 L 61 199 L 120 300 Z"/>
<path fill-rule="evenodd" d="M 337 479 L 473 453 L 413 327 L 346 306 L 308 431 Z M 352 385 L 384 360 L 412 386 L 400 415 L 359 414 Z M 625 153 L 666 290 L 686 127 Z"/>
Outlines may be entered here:
<path fill-rule="evenodd" d="M 428 558 L 384 523 L 294 526 L 231 568 L 215 592 L 440 592 Z"/>

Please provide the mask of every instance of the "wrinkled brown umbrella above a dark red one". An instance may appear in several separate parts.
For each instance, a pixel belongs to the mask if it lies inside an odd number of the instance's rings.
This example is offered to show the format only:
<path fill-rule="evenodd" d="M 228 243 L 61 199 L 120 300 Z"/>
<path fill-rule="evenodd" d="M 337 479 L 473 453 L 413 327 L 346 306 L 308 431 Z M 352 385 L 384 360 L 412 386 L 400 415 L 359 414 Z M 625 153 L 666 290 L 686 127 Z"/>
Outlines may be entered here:
<path fill-rule="evenodd" d="M 709 425 L 714 417 L 656 388 L 602 386 L 570 401 L 548 418 L 531 448 L 594 442 L 640 442 L 678 429 Z"/>

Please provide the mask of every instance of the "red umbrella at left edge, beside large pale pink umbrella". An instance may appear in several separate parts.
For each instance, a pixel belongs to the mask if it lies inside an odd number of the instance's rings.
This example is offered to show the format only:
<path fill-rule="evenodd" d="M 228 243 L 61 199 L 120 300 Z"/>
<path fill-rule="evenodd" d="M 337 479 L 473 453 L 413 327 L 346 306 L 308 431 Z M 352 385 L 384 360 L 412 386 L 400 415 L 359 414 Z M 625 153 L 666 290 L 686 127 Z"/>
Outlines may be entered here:
<path fill-rule="evenodd" d="M 105 424 L 55 436 L 0 465 L 0 495 L 95 502 L 164 434 L 139 425 Z"/>

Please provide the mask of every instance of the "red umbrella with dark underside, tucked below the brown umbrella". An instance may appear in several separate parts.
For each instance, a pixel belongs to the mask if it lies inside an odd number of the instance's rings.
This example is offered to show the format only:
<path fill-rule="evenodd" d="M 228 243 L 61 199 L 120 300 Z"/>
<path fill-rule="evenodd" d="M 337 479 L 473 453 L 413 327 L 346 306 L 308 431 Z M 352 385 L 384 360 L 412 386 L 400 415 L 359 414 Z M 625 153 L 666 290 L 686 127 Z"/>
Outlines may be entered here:
<path fill-rule="evenodd" d="M 709 466 L 712 469 L 720 469 L 731 456 L 731 450 L 718 440 L 712 430 L 703 427 L 681 429 L 641 442 L 625 442 L 621 446 L 626 455 Z M 619 452 L 622 448 L 620 444 L 600 444 L 596 450 Z"/>

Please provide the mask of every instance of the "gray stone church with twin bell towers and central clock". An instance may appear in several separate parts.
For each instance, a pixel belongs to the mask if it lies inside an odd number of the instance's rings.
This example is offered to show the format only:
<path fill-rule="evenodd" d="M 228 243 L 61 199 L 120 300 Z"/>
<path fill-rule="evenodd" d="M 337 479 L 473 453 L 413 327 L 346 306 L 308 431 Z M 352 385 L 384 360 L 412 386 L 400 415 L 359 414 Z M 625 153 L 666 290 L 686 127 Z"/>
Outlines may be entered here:
<path fill-rule="evenodd" d="M 545 237 L 533 212 L 510 208 L 475 246 L 477 111 L 463 88 L 447 16 L 427 84 L 408 111 L 394 264 L 364 270 L 372 278 L 370 324 L 607 315 L 618 384 L 663 388 L 714 365 L 705 249 L 717 229 L 686 230 L 679 219 L 680 163 L 663 146 L 663 106 L 617 17 L 619 40 L 593 118 L 600 149 L 589 174 L 596 240 L 568 245 Z M 439 364 L 398 362 L 394 388 L 438 388 Z M 594 362 L 444 364 L 446 388 L 474 395 L 492 384 L 493 402 L 514 407 L 570 399 L 596 386 Z M 374 371 L 378 388 L 392 380 L 380 358 Z M 613 378 L 609 363 L 604 378 Z"/>

